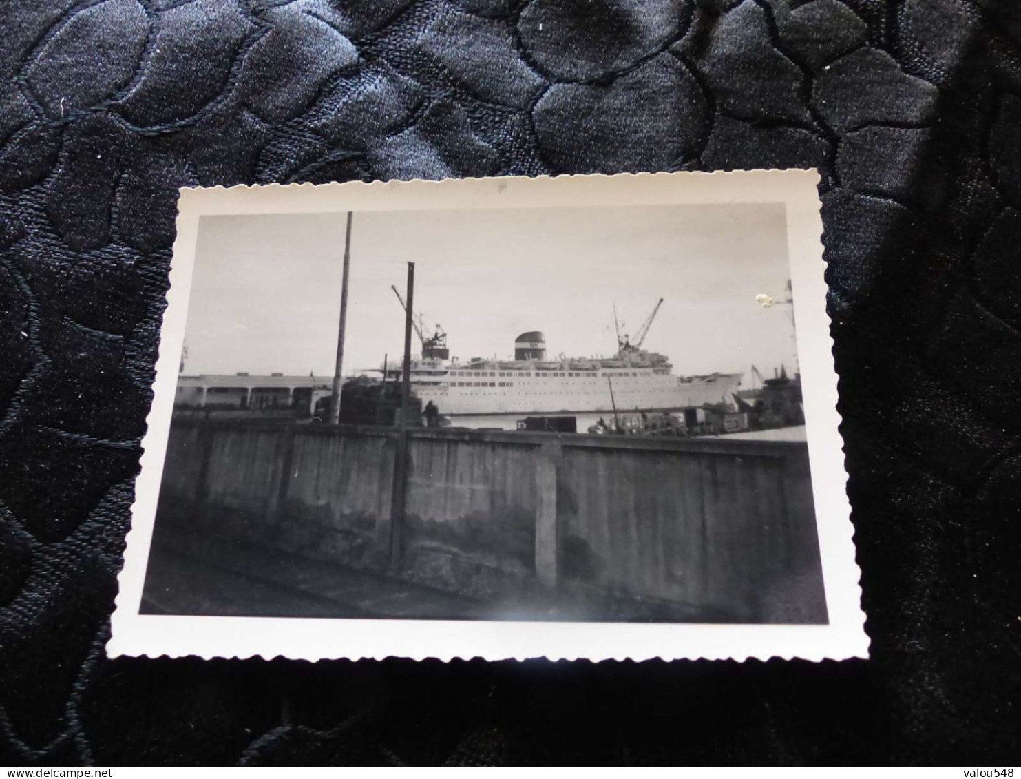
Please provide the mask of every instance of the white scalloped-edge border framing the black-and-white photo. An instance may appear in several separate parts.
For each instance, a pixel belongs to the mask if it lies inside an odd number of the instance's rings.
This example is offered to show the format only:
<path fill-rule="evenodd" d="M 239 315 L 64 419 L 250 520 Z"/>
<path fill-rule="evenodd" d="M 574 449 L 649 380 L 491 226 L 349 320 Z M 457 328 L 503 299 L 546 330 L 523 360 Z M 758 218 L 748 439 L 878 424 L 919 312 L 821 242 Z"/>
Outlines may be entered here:
<path fill-rule="evenodd" d="M 867 658 L 846 473 L 826 312 L 822 218 L 816 171 L 620 174 L 362 184 L 182 189 L 154 398 L 143 439 L 132 526 L 118 576 L 107 654 L 308 661 L 660 658 L 810 661 Z M 782 203 L 801 371 L 809 458 L 827 625 L 502 622 L 139 614 L 163 458 L 184 345 L 199 217 L 348 210 L 543 208 L 557 205 Z"/>

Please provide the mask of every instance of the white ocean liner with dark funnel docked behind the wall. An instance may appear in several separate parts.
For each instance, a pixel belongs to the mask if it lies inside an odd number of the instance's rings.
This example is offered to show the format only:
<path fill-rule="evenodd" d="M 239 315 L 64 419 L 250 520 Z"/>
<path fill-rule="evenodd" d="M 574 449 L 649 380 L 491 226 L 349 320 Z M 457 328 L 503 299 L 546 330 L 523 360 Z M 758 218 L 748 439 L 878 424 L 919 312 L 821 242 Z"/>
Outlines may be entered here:
<path fill-rule="evenodd" d="M 446 334 L 438 326 L 427 335 L 417 323 L 422 356 L 409 367 L 411 390 L 423 404 L 432 401 L 440 413 L 448 416 L 611 412 L 615 407 L 678 410 L 706 403 L 732 406 L 741 374 L 674 376 L 667 356 L 641 347 L 662 302 L 642 325 L 634 344 L 618 334 L 618 350 L 611 358 L 548 359 L 542 333 L 531 331 L 515 340 L 513 360 L 460 362 L 450 359 Z M 399 381 L 400 366 L 384 366 L 383 374 L 386 381 Z"/>

